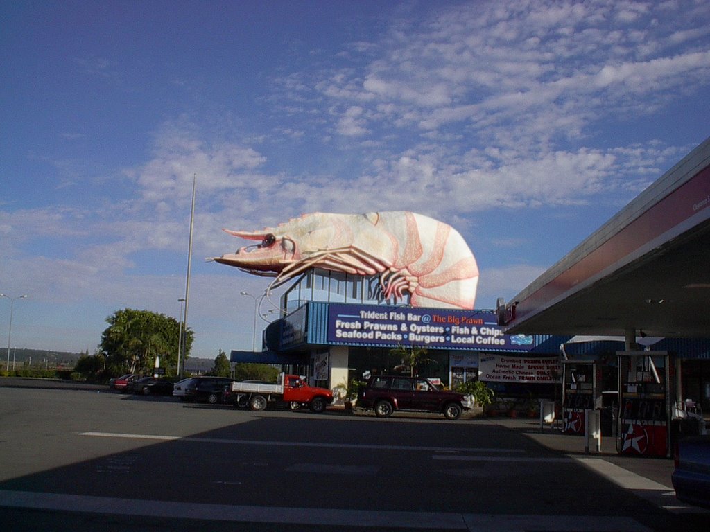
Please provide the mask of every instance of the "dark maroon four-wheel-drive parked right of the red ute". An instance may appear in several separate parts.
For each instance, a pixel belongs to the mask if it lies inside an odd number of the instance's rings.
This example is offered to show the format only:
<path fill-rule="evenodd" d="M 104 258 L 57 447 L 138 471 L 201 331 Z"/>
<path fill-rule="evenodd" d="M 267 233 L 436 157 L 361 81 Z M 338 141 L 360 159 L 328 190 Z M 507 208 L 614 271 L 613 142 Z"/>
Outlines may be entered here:
<path fill-rule="evenodd" d="M 447 419 L 459 419 L 464 409 L 473 406 L 469 397 L 439 389 L 422 377 L 383 375 L 370 377 L 358 392 L 357 406 L 374 410 L 380 417 L 395 410 L 437 412 Z"/>

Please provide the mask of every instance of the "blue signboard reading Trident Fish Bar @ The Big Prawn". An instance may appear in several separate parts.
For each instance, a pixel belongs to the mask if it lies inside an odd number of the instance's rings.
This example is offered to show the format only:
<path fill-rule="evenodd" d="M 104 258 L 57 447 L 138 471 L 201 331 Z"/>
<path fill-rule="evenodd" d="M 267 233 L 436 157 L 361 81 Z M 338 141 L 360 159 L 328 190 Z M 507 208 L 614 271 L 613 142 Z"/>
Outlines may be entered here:
<path fill-rule="evenodd" d="M 493 311 L 330 304 L 328 342 L 466 350 L 528 351 L 532 336 L 503 334 Z"/>

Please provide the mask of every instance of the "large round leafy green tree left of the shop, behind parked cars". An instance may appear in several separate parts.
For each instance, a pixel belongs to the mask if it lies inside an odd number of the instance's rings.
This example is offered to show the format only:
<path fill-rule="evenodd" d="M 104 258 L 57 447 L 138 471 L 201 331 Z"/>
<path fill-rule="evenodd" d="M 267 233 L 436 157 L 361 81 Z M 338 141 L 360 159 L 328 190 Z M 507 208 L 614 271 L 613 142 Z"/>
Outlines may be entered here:
<path fill-rule="evenodd" d="M 165 314 L 135 309 L 122 309 L 106 318 L 109 324 L 101 336 L 99 350 L 107 361 L 111 375 L 124 372 L 149 372 L 160 356 L 161 367 L 173 369 L 178 362 L 180 322 Z M 194 335 L 182 331 L 185 358 L 192 348 Z"/>

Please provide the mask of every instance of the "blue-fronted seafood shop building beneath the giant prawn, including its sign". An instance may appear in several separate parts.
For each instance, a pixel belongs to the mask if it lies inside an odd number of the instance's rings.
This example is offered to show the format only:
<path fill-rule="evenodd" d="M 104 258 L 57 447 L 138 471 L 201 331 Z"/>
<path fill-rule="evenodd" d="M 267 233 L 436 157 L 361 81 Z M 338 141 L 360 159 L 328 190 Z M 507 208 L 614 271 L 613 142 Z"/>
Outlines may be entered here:
<path fill-rule="evenodd" d="M 559 345 L 569 337 L 503 334 L 493 310 L 437 309 L 385 299 L 378 277 L 313 268 L 283 294 L 262 351 L 231 352 L 232 362 L 288 365 L 310 384 L 334 388 L 376 373 L 406 371 L 397 348 L 424 348 L 419 374 L 455 387 L 481 379 L 501 392 L 525 384 L 550 392 Z"/>

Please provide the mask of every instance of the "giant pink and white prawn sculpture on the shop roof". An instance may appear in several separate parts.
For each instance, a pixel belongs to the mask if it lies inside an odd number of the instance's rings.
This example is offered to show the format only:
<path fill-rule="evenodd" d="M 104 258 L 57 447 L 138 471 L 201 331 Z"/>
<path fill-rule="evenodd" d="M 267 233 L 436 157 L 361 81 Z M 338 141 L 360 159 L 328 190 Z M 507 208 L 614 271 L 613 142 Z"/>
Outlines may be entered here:
<path fill-rule="evenodd" d="M 305 214 L 261 231 L 229 231 L 258 240 L 213 260 L 275 277 L 269 289 L 311 267 L 379 275 L 386 299 L 410 294 L 412 306 L 473 309 L 479 268 L 452 226 L 408 211 Z"/>

